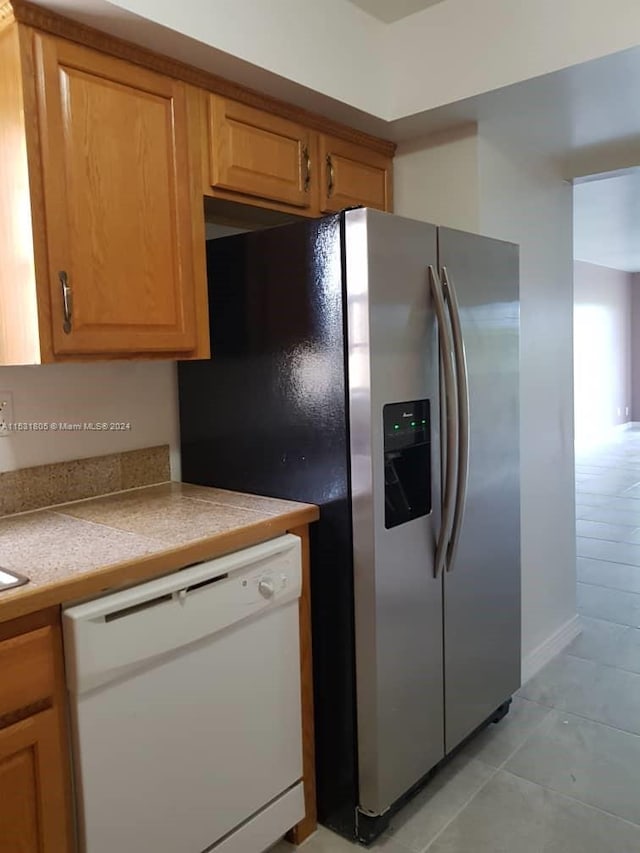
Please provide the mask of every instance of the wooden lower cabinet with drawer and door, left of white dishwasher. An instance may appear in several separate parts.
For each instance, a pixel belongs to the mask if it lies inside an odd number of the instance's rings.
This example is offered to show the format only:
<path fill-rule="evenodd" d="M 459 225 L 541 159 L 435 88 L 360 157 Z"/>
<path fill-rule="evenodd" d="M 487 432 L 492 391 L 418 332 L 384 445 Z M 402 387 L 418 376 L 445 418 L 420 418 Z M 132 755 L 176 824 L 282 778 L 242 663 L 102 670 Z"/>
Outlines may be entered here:
<path fill-rule="evenodd" d="M 74 850 L 58 619 L 0 624 L 0 853 Z"/>

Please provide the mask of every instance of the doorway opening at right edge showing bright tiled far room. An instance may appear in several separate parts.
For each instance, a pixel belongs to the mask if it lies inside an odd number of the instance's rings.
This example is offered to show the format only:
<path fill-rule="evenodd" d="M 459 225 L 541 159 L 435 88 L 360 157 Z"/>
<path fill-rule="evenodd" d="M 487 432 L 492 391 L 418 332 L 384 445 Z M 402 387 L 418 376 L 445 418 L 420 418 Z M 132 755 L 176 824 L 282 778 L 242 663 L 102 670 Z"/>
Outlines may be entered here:
<path fill-rule="evenodd" d="M 640 672 L 640 168 L 574 187 L 576 648 Z M 637 635 L 637 636 L 633 636 Z"/>

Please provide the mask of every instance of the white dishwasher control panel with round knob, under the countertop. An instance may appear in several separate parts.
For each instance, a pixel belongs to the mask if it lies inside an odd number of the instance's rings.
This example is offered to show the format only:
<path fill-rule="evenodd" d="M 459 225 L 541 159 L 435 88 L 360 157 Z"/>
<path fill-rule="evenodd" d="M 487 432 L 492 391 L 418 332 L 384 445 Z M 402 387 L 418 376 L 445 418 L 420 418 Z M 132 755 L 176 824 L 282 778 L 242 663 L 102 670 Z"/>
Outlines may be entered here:
<path fill-rule="evenodd" d="M 67 686 L 72 693 L 95 689 L 150 658 L 296 601 L 301 587 L 300 538 L 286 534 L 68 607 Z"/>

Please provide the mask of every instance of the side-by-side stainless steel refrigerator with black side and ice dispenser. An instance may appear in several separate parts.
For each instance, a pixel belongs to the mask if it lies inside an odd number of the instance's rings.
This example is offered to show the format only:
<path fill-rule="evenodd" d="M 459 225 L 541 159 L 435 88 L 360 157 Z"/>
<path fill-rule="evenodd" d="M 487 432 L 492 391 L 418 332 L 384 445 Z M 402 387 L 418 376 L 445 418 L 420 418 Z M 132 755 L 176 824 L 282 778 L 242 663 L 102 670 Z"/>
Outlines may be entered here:
<path fill-rule="evenodd" d="M 319 504 L 318 811 L 368 842 L 520 685 L 518 250 L 356 209 L 207 255 L 182 476 Z"/>

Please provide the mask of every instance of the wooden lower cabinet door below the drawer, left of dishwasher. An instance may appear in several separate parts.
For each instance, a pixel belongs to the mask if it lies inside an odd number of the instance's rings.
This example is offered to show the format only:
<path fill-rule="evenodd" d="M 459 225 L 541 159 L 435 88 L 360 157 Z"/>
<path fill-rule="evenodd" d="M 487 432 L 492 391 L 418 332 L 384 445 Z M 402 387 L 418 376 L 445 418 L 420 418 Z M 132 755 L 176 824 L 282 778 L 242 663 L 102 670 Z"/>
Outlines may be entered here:
<path fill-rule="evenodd" d="M 57 713 L 0 729 L 0 853 L 70 853 Z"/>

